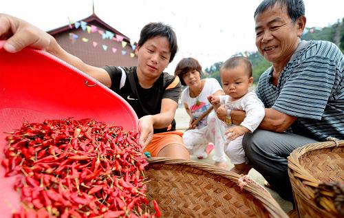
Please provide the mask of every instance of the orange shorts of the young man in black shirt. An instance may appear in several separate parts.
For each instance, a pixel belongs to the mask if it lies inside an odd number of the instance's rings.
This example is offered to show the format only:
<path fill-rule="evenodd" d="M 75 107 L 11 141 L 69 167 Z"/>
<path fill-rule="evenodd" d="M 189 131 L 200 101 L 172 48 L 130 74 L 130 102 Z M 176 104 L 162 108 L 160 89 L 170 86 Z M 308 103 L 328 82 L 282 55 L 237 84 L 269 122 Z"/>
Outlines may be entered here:
<path fill-rule="evenodd" d="M 158 156 L 158 153 L 165 146 L 169 144 L 182 144 L 183 146 L 183 133 L 180 131 L 170 131 L 164 133 L 156 133 L 153 135 L 151 142 L 143 149 L 144 152 L 149 151 L 152 157 Z"/>

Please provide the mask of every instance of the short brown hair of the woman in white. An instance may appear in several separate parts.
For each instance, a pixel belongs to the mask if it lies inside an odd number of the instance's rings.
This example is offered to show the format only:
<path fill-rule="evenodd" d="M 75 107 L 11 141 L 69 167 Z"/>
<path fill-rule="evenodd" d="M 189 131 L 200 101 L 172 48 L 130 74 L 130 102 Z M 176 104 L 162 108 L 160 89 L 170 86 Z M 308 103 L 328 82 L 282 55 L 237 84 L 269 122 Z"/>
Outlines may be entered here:
<path fill-rule="evenodd" d="M 182 58 L 178 63 L 177 67 L 175 67 L 174 74 L 180 78 L 180 83 L 182 85 L 186 85 L 183 76 L 187 72 L 191 72 L 193 70 L 197 70 L 197 72 L 202 72 L 202 66 L 195 58 Z"/>

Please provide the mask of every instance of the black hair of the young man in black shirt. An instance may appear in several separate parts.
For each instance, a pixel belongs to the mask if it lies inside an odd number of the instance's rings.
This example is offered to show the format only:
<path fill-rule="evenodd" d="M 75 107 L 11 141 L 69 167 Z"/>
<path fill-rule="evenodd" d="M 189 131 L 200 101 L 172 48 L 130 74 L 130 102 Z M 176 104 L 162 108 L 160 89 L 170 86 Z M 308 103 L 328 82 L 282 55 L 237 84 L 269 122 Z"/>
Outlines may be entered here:
<path fill-rule="evenodd" d="M 169 63 L 173 61 L 175 54 L 178 51 L 177 36 L 171 28 L 171 26 L 164 23 L 148 23 L 145 25 L 140 33 L 140 39 L 138 41 L 138 46 L 141 47 L 147 40 L 154 38 L 156 36 L 166 37 L 169 41 L 171 57 Z"/>

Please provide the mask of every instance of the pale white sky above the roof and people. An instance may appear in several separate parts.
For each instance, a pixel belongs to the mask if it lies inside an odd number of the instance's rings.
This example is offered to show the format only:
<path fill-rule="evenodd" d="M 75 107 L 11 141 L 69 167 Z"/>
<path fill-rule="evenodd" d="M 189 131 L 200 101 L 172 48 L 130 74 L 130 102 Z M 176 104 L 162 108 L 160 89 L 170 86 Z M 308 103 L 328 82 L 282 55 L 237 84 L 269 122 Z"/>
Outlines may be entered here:
<path fill-rule="evenodd" d="M 203 69 L 237 52 L 255 52 L 253 14 L 261 0 L 0 0 L 0 13 L 11 14 L 48 31 L 92 14 L 138 41 L 149 22 L 171 25 L 179 51 L 165 72 L 173 74 L 182 58 L 193 57 Z M 306 27 L 325 27 L 344 17 L 342 0 L 304 0 Z M 109 63 L 111 65 L 111 63 Z"/>

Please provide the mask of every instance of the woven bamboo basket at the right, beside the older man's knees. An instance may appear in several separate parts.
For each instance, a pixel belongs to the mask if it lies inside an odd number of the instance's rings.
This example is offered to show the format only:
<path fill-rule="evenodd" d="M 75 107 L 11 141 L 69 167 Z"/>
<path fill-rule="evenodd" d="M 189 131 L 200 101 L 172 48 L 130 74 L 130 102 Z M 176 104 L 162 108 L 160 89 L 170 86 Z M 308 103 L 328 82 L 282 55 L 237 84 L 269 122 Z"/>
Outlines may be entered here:
<path fill-rule="evenodd" d="M 299 217 L 344 217 L 344 140 L 295 149 L 288 174 Z"/>

